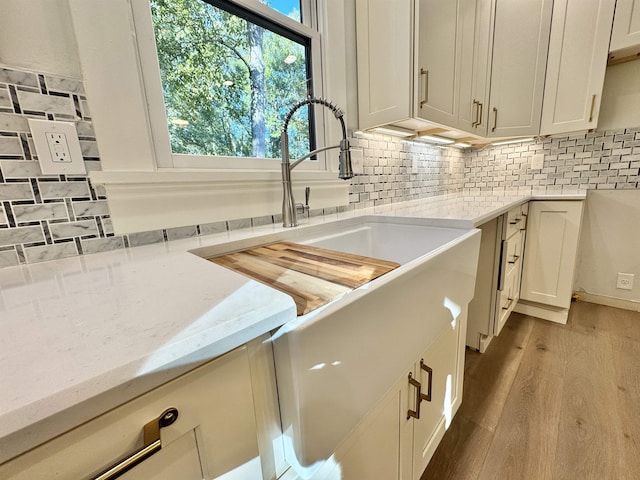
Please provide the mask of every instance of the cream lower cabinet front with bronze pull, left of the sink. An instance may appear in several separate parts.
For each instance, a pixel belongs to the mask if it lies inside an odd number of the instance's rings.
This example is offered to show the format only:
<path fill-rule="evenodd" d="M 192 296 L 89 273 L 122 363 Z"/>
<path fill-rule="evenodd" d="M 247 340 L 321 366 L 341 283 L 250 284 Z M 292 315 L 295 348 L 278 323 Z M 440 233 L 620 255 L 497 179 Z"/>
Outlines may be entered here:
<path fill-rule="evenodd" d="M 252 375 L 272 369 L 270 344 L 266 345 L 266 350 L 263 346 L 233 350 L 9 460 L 0 465 L 0 478 L 111 478 L 99 475 L 140 451 L 154 433 L 154 429 L 145 429 L 148 438 L 143 440 L 143 427 L 169 408 L 175 408 L 178 416 L 172 424 L 159 429 L 161 449 L 120 478 L 275 478 L 274 450 L 281 450 L 277 445 L 281 436 L 274 435 L 272 429 L 278 418 L 269 413 L 269 405 L 273 406 L 275 400 L 265 398 L 264 392 L 270 387 L 256 389 L 256 382 L 252 383 Z M 258 411 L 254 397 L 264 400 Z M 265 454 L 259 445 L 266 444 L 271 446 Z"/>

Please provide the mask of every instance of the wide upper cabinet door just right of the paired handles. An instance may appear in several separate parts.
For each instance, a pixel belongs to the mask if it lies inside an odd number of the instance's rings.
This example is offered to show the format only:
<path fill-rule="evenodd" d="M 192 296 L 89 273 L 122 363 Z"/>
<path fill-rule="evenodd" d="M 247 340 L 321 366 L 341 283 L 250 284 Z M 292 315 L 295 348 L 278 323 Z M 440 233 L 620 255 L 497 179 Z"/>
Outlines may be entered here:
<path fill-rule="evenodd" d="M 497 0 L 489 137 L 537 135 L 553 0 Z"/>

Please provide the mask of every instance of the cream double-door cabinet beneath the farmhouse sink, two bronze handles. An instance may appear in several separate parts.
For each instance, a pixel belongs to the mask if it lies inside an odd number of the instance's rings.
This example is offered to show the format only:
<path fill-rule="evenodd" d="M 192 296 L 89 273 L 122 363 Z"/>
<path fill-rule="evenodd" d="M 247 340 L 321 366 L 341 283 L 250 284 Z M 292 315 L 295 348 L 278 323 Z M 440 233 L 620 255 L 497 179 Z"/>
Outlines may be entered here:
<path fill-rule="evenodd" d="M 340 444 L 314 480 L 418 480 L 462 400 L 466 311 Z"/>

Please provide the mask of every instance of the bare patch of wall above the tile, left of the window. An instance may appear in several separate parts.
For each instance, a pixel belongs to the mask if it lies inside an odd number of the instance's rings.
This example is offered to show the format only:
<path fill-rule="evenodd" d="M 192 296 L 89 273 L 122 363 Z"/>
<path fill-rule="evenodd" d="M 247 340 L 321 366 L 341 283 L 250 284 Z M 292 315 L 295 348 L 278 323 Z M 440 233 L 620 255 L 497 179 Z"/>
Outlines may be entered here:
<path fill-rule="evenodd" d="M 81 79 L 67 0 L 1 0 L 0 65 Z"/>

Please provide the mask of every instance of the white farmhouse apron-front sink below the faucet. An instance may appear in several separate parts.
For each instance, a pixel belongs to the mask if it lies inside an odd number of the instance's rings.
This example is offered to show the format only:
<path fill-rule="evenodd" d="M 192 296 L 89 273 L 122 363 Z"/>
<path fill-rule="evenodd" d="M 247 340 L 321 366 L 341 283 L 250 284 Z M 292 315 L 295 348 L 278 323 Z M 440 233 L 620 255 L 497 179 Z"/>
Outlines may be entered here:
<path fill-rule="evenodd" d="M 401 266 L 273 336 L 286 455 L 303 478 L 466 311 L 480 245 L 479 230 L 419 219 L 361 217 L 322 227 L 285 239 Z"/>

